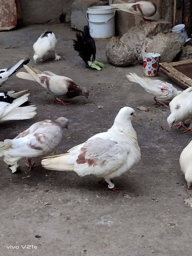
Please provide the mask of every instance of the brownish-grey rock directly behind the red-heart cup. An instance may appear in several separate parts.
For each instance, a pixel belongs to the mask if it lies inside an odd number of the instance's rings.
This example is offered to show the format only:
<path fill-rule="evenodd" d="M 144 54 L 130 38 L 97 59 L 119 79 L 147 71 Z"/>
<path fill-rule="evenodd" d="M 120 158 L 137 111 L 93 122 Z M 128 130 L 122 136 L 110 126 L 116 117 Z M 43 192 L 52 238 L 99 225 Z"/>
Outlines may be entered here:
<path fill-rule="evenodd" d="M 141 47 L 141 48 L 140 48 Z M 174 37 L 159 33 L 152 38 L 141 40 L 136 46 L 137 58 L 142 62 L 142 53 L 156 52 L 160 53 L 160 62 L 172 62 L 172 60 L 181 51 L 182 45 Z"/>

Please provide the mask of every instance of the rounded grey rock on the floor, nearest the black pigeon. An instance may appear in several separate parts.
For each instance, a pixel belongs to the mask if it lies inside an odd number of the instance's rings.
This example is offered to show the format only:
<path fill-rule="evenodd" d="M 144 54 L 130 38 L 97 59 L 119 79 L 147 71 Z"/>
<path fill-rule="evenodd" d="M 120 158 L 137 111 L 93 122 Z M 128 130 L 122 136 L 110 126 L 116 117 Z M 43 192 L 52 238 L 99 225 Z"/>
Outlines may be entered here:
<path fill-rule="evenodd" d="M 117 37 L 112 37 L 106 49 L 107 60 L 118 67 L 128 66 L 135 62 L 136 56 L 132 49 L 121 43 Z"/>

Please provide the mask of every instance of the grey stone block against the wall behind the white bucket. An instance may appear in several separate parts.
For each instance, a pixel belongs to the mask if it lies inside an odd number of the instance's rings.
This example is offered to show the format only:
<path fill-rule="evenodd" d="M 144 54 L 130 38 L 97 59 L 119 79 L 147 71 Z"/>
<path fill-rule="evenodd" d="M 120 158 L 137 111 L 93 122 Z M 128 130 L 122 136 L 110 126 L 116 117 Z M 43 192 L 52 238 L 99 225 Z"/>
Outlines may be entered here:
<path fill-rule="evenodd" d="M 88 24 L 86 19 L 87 7 L 105 4 L 99 0 L 75 0 L 72 4 L 71 27 L 83 31 L 84 26 Z"/>

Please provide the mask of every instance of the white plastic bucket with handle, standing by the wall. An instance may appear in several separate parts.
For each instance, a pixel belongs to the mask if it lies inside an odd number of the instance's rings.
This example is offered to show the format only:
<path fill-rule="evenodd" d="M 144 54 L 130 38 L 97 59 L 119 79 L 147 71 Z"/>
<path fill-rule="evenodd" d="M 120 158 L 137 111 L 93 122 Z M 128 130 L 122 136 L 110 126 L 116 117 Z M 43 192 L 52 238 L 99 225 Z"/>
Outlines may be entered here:
<path fill-rule="evenodd" d="M 90 35 L 94 38 L 115 36 L 115 11 L 108 5 L 87 8 Z"/>

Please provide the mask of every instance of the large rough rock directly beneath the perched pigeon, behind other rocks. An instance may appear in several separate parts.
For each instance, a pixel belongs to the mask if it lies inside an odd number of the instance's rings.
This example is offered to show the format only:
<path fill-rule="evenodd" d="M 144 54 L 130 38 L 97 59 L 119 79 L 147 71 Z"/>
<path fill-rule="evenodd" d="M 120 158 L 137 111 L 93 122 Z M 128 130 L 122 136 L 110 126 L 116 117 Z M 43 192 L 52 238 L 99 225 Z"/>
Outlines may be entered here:
<path fill-rule="evenodd" d="M 120 41 L 131 47 L 136 53 L 136 44 L 146 37 L 156 36 L 158 33 L 170 32 L 172 23 L 165 20 L 151 21 L 131 28 L 125 33 Z"/>

